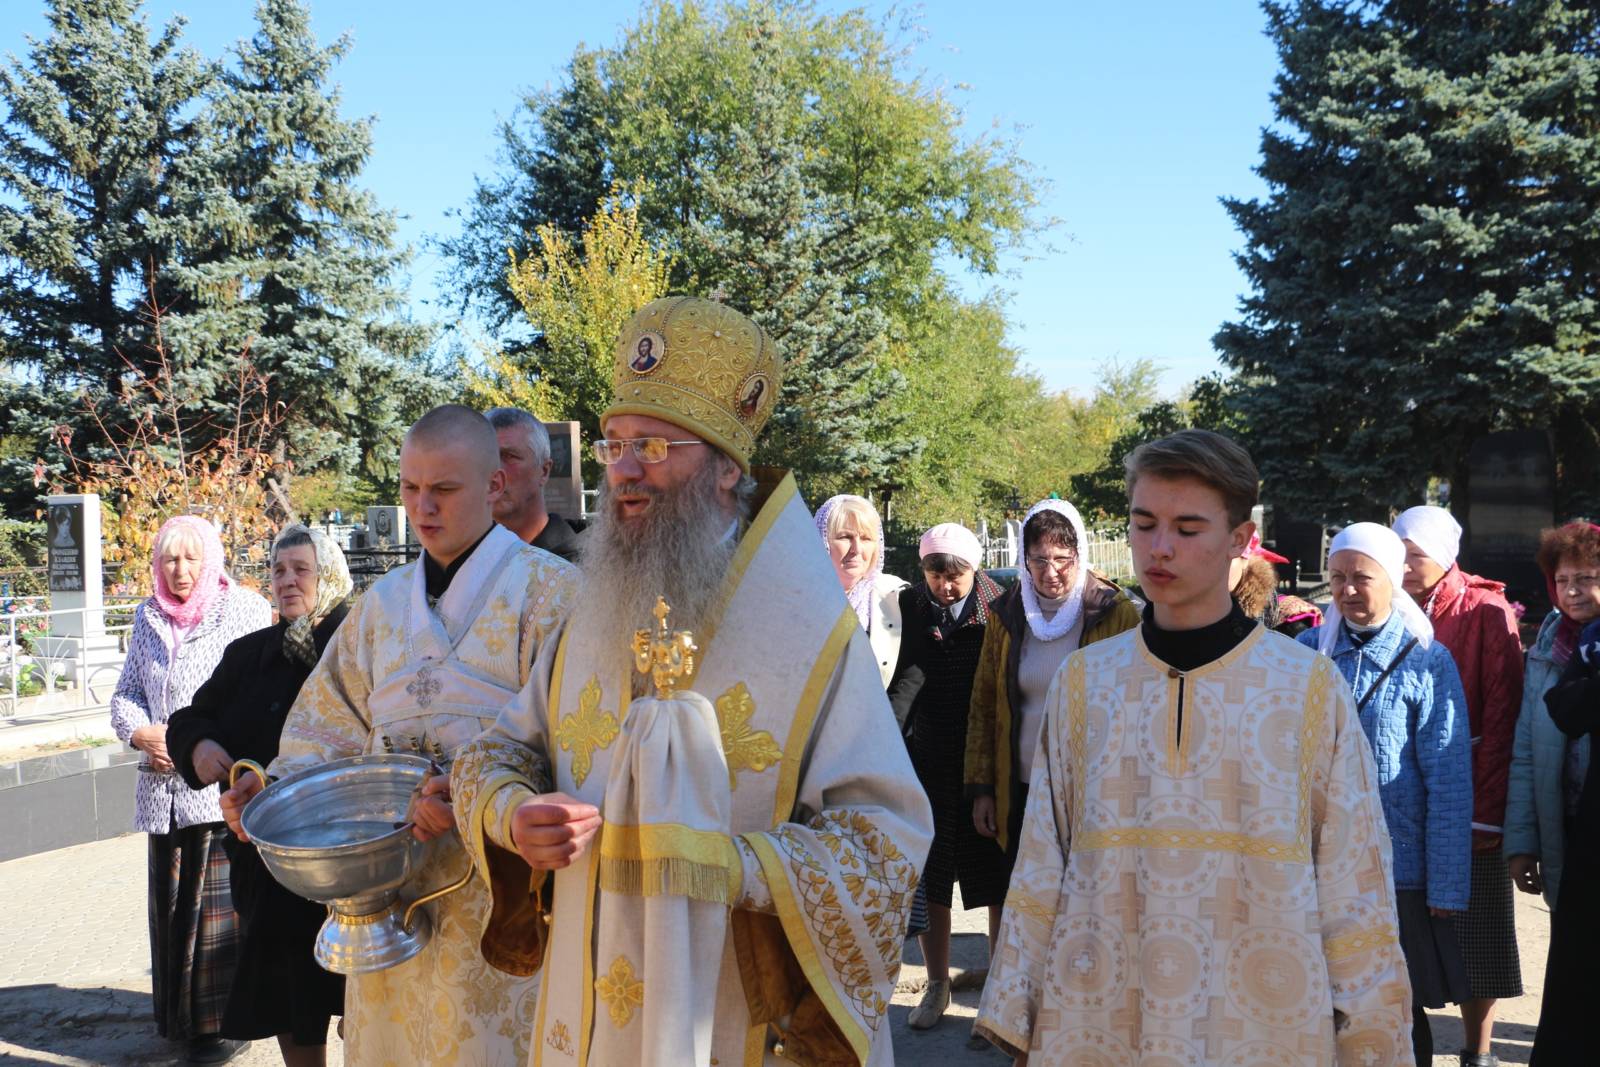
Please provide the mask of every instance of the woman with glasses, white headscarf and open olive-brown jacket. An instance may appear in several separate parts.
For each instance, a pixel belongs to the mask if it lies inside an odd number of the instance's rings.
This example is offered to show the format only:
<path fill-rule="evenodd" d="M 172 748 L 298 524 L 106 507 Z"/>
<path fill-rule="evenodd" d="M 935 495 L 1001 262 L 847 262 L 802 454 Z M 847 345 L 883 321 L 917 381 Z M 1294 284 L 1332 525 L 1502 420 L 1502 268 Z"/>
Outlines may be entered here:
<path fill-rule="evenodd" d="M 1088 568 L 1086 547 L 1078 509 L 1054 498 L 1035 504 L 1022 520 L 1018 582 L 995 601 L 984 633 L 966 720 L 965 785 L 973 827 L 1005 849 L 1006 881 L 1051 680 L 1075 649 L 1139 625 L 1139 606 Z M 1000 917 L 1000 907 L 989 909 L 990 947 Z"/>

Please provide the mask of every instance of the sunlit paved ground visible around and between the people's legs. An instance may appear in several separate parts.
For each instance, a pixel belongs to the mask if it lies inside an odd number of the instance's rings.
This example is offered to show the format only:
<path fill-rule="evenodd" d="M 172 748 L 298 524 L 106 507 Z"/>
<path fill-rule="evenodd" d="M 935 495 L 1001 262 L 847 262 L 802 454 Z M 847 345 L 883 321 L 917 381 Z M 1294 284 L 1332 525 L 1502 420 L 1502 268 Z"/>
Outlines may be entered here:
<path fill-rule="evenodd" d="M 0 1065 L 10 1064 L 173 1064 L 181 1049 L 155 1037 L 150 1022 L 150 950 L 144 912 L 144 837 L 128 835 L 0 864 Z M 957 912 L 952 958 L 957 969 L 982 966 L 984 912 Z M 1507 1001 L 1494 1051 L 1507 1064 L 1528 1062 L 1539 1017 L 1549 913 L 1542 901 L 1517 894 L 1517 933 L 1528 995 Z M 898 1061 L 912 1067 L 998 1065 L 995 1049 L 970 1051 L 976 990 L 957 992 L 950 1014 L 914 1033 L 906 1014 L 917 1003 L 926 971 L 917 947 L 906 952 L 891 1008 Z M 1461 1021 L 1435 1013 L 1435 1046 L 1461 1048 Z M 339 1041 L 328 1062 L 339 1067 Z M 234 1061 L 282 1062 L 274 1041 L 256 1041 Z"/>

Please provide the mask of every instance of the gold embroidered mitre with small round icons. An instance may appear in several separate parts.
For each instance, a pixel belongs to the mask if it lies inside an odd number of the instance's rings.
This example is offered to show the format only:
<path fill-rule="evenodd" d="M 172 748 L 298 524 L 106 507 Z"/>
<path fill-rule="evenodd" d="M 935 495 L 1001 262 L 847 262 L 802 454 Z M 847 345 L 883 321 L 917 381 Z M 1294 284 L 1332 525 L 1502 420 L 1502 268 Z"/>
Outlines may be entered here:
<path fill-rule="evenodd" d="M 638 309 L 616 346 L 614 400 L 600 416 L 645 414 L 728 453 L 746 474 L 755 437 L 778 403 L 784 360 L 766 331 L 698 296 Z"/>

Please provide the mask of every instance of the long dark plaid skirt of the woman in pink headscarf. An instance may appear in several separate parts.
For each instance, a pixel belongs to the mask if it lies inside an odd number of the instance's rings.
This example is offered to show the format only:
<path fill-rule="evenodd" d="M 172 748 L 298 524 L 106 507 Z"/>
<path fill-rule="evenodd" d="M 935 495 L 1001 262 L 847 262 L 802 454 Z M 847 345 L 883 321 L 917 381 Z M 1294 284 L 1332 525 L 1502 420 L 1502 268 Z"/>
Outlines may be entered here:
<path fill-rule="evenodd" d="M 221 822 L 150 835 L 150 1005 L 166 1038 L 222 1029 L 237 952 L 226 837 Z"/>

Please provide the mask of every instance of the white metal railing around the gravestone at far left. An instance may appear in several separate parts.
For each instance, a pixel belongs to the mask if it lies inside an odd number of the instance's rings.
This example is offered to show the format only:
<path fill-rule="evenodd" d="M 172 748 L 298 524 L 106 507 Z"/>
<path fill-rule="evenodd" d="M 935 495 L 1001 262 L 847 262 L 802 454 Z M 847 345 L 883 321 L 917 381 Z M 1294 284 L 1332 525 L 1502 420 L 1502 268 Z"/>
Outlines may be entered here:
<path fill-rule="evenodd" d="M 107 597 L 99 608 L 50 608 L 48 597 L 0 601 L 0 718 L 14 717 L 30 696 L 74 691 L 75 701 L 51 710 L 109 707 L 141 600 Z"/>

